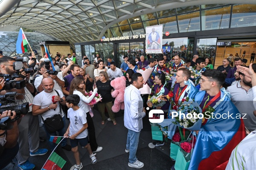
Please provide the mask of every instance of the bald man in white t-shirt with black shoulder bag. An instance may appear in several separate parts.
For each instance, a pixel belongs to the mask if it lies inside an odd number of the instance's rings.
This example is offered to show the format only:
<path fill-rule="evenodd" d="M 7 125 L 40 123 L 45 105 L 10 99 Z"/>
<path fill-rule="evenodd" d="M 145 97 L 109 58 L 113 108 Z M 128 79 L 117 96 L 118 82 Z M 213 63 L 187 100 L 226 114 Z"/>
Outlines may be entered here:
<path fill-rule="evenodd" d="M 43 86 L 44 91 L 42 91 L 41 93 L 35 96 L 33 100 L 33 105 L 32 105 L 32 114 L 40 115 L 43 119 L 42 123 L 44 123 L 45 119 L 50 118 L 55 114 L 60 114 L 64 122 L 64 127 L 58 130 L 58 133 L 59 133 L 58 136 L 63 136 L 66 132 L 66 117 L 64 112 L 61 109 L 60 104 L 61 105 L 66 104 L 65 96 L 61 90 L 53 89 L 54 82 L 53 82 L 53 79 L 50 77 L 42 79 L 41 85 Z M 52 96 L 55 96 L 54 102 L 52 102 Z M 57 136 L 56 132 L 49 133 L 46 130 L 45 125 L 44 125 L 44 129 L 47 134 L 49 147 L 51 150 L 53 150 L 56 144 L 53 142 L 50 142 L 49 139 L 50 139 L 50 136 Z M 71 146 L 67 144 L 66 138 L 61 142 L 61 146 L 65 150 L 68 150 L 68 151 L 71 150 Z"/>

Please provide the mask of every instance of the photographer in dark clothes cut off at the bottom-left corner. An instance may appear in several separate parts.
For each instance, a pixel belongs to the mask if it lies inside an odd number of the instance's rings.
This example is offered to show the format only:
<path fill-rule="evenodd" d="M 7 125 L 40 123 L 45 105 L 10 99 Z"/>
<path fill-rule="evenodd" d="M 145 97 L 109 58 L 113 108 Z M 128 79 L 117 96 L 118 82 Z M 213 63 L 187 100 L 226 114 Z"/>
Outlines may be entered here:
<path fill-rule="evenodd" d="M 0 119 L 5 117 L 15 119 L 16 113 L 15 111 L 3 111 L 2 114 L 0 113 Z M 20 170 L 18 161 L 15 157 L 19 151 L 19 144 L 17 143 L 19 136 L 17 121 L 9 122 L 9 125 L 13 126 L 12 129 L 0 129 L 0 169 Z"/>

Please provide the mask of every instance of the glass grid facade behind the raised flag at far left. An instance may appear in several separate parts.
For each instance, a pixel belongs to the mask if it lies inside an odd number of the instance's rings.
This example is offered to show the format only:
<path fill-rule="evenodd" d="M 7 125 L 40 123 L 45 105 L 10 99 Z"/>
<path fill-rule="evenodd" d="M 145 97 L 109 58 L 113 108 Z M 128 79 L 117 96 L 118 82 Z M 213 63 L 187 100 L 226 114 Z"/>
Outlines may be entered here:
<path fill-rule="evenodd" d="M 4 32 L 0 31 L 0 51 L 3 51 L 4 56 L 14 57 L 17 56 L 16 53 L 16 42 L 19 32 Z M 42 41 L 59 41 L 56 38 L 49 37 L 48 35 L 38 33 L 38 32 L 25 32 L 26 38 L 32 50 L 36 55 L 42 56 L 39 42 Z M 31 50 L 28 46 L 28 53 L 19 54 L 20 57 L 28 57 Z"/>

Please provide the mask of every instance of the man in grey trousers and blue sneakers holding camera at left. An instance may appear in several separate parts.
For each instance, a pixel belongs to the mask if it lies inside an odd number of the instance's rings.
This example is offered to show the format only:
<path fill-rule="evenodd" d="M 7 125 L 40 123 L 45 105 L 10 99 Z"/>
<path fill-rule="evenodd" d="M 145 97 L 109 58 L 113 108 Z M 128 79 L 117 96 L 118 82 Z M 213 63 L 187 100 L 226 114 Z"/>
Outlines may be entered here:
<path fill-rule="evenodd" d="M 13 65 L 15 65 L 15 67 Z M 32 89 L 34 90 L 34 87 L 29 83 L 28 81 L 29 79 L 27 78 L 26 72 L 23 71 L 23 69 L 20 69 L 19 71 L 17 71 L 16 65 L 20 65 L 20 63 L 16 62 L 16 59 L 12 57 L 2 57 L 0 59 L 0 71 L 3 74 L 10 74 L 10 75 L 14 75 L 15 72 L 18 72 L 19 76 L 15 78 L 15 80 L 23 82 L 23 79 L 26 79 L 25 87 L 21 85 L 21 89 L 12 88 L 10 90 L 8 89 L 8 90 L 1 91 L 1 94 L 15 91 L 17 92 L 17 94 L 19 94 L 16 96 L 16 99 L 18 100 L 17 101 L 18 105 L 23 104 L 24 102 L 32 103 L 34 97 L 30 93 L 30 91 L 32 91 Z M 26 64 L 23 63 L 23 66 L 26 66 Z M 17 85 L 17 82 L 15 82 L 15 84 Z M 28 89 L 30 89 L 30 91 Z M 29 112 L 26 114 L 26 116 L 23 117 L 18 127 L 19 127 L 18 143 L 20 145 L 20 149 L 17 154 L 17 158 L 19 160 L 19 167 L 22 168 L 23 170 L 32 170 L 35 167 L 35 165 L 31 164 L 28 161 L 29 156 L 44 155 L 48 152 L 47 149 L 38 149 L 39 141 L 40 141 L 39 121 L 38 121 L 38 116 L 32 115 L 32 107 L 29 107 Z"/>

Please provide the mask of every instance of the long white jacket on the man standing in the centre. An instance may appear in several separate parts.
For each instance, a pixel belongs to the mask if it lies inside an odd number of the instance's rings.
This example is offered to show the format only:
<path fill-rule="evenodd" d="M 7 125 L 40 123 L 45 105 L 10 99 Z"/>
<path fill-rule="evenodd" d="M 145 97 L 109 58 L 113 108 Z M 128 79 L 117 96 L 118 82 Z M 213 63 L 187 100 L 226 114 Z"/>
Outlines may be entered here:
<path fill-rule="evenodd" d="M 134 85 L 129 85 L 125 88 L 125 127 L 135 132 L 140 132 L 143 128 L 142 118 L 145 114 L 139 89 Z"/>

